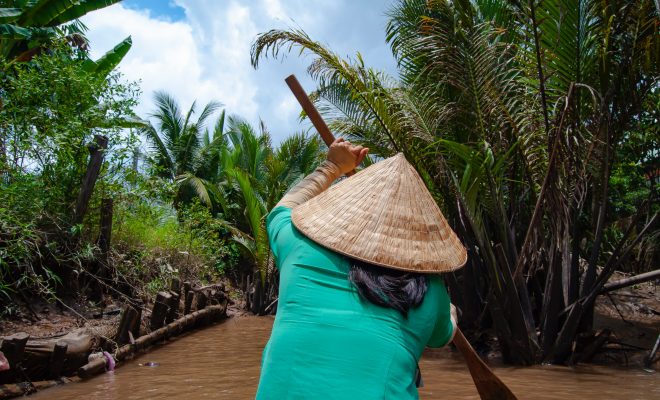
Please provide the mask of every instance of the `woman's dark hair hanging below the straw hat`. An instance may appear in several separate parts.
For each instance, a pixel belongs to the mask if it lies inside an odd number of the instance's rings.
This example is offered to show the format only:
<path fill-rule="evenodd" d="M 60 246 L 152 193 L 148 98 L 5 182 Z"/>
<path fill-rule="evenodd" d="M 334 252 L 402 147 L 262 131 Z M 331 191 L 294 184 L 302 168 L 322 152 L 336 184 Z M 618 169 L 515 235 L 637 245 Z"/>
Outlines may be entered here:
<path fill-rule="evenodd" d="M 428 289 L 425 274 L 378 267 L 359 260 L 351 262 L 348 279 L 360 297 L 381 307 L 393 308 L 405 318 L 411 308 L 424 300 Z"/>

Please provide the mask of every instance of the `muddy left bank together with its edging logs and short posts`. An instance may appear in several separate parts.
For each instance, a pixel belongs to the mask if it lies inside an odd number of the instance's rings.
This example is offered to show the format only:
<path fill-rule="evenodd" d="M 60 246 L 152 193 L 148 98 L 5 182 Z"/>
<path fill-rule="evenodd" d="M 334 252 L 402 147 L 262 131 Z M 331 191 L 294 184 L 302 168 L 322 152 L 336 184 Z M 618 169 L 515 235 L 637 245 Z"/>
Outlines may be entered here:
<path fill-rule="evenodd" d="M 89 378 L 112 370 L 159 341 L 225 318 L 230 302 L 222 284 L 195 287 L 173 280 L 171 290 L 159 292 L 152 304 L 136 299 L 105 309 L 62 304 L 64 310 L 44 306 L 42 315 L 35 310 L 42 304 L 30 304 L 26 308 L 36 321 L 3 321 L 0 384 L 9 385 L 2 387 L 0 398 L 31 392 L 63 376 Z M 18 332 L 8 335 L 6 329 Z M 11 385 L 21 382 L 27 383 Z"/>

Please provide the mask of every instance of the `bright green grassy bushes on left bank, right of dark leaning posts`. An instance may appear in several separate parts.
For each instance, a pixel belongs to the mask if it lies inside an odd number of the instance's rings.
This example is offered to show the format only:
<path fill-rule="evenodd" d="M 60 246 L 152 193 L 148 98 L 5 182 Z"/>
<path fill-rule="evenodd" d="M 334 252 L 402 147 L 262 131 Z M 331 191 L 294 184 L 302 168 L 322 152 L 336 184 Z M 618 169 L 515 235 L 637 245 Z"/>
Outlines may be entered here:
<path fill-rule="evenodd" d="M 199 203 L 177 212 L 158 202 L 125 199 L 115 213 L 114 241 L 118 273 L 147 294 L 172 277 L 213 281 L 238 262 L 229 232 Z"/>

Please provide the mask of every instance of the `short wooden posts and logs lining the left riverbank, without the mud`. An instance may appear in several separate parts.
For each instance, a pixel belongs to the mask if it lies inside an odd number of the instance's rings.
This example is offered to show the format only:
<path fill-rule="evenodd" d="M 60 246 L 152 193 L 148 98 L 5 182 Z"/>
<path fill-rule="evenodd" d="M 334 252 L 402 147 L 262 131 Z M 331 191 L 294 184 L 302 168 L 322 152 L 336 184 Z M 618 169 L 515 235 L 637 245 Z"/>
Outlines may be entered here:
<path fill-rule="evenodd" d="M 181 298 L 184 299 L 183 305 Z M 114 360 L 121 362 L 130 359 L 159 341 L 225 318 L 228 301 L 223 285 L 194 288 L 189 282 L 182 285 L 178 279 L 174 279 L 169 291 L 157 294 L 148 323 L 145 323 L 148 332 L 144 335 L 140 335 L 143 331 L 143 307 L 140 302 L 133 301 L 124 306 L 114 335 Z M 62 375 L 75 373 L 75 380 L 104 372 L 108 361 L 106 357 L 88 360 L 92 349 L 98 347 L 100 338 L 76 335 L 76 332 L 72 332 L 46 341 L 29 341 L 30 337 L 26 333 L 4 338 L 0 349 L 9 361 L 10 370 L 0 373 L 4 375 L 3 383 L 26 382 L 0 385 L 0 399 L 72 380 L 61 378 Z"/>

